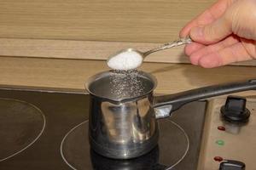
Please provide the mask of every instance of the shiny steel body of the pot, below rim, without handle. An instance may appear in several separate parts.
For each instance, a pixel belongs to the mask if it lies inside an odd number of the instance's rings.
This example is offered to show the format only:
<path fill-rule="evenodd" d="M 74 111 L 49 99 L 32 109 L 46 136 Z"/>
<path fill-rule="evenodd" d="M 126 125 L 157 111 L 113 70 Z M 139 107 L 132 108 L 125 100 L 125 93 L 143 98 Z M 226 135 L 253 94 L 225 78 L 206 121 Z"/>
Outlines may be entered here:
<path fill-rule="evenodd" d="M 90 146 L 102 156 L 129 159 L 152 150 L 159 128 L 150 105 L 153 94 L 115 103 L 90 95 Z"/>

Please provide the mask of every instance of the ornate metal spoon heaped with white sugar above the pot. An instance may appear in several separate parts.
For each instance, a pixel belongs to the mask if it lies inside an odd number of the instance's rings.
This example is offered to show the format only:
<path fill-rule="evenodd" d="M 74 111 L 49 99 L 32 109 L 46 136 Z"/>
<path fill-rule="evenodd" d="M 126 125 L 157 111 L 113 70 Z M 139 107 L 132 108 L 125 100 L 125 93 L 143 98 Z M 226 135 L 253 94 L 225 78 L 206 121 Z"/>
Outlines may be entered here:
<path fill-rule="evenodd" d="M 146 52 L 141 52 L 135 48 L 127 48 L 108 57 L 107 64 L 113 70 L 131 70 L 142 65 L 143 60 L 154 52 L 167 48 L 177 47 L 192 42 L 190 37 L 183 37 L 172 42 L 165 43 L 157 48 L 152 48 Z"/>

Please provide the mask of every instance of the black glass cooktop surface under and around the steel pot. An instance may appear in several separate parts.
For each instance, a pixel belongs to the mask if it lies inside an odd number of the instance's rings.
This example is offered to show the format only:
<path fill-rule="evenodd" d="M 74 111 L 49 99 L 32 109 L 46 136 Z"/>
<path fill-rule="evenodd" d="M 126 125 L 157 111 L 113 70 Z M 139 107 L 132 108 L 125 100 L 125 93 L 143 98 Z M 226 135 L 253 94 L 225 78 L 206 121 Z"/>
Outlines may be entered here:
<path fill-rule="evenodd" d="M 89 102 L 88 94 L 72 90 L 0 88 L 0 169 L 196 169 L 206 102 L 159 120 L 158 146 L 131 160 L 90 150 Z"/>

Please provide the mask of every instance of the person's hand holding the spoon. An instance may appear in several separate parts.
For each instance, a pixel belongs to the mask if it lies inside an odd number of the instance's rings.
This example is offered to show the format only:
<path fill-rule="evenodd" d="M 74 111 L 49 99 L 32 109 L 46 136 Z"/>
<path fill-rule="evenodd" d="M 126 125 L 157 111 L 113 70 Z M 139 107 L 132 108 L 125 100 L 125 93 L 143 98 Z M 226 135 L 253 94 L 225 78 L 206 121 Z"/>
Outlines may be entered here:
<path fill-rule="evenodd" d="M 180 37 L 186 36 L 194 41 L 185 47 L 194 65 L 256 59 L 256 0 L 218 0 L 183 28 Z"/>

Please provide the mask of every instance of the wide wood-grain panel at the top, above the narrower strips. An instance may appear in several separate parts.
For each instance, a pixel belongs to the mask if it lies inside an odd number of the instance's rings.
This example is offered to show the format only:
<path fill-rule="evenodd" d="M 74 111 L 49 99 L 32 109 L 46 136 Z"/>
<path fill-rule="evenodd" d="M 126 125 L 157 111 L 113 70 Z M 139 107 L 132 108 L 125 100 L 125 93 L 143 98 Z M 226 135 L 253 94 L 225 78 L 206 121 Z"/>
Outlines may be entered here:
<path fill-rule="evenodd" d="M 0 37 L 168 42 L 215 0 L 1 0 Z"/>

